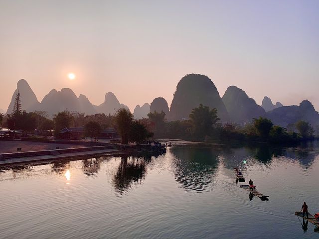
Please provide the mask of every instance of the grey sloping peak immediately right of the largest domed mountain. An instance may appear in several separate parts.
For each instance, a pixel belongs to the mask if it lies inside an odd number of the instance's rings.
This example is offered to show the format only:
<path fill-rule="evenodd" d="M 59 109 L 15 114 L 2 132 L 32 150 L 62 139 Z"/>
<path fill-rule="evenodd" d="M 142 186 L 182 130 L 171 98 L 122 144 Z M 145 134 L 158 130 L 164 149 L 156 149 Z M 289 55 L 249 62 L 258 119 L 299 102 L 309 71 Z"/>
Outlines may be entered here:
<path fill-rule="evenodd" d="M 243 123 L 265 115 L 265 110 L 236 86 L 227 88 L 222 101 L 232 121 Z"/>

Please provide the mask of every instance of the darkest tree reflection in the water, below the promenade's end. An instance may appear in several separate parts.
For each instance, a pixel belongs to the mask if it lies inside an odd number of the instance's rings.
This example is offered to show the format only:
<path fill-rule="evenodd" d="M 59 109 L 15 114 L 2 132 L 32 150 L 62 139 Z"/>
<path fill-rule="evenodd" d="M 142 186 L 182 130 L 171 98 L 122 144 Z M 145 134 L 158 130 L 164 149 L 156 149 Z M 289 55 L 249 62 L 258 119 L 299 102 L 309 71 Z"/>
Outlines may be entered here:
<path fill-rule="evenodd" d="M 121 163 L 113 178 L 113 185 L 117 194 L 127 192 L 133 183 L 144 179 L 146 173 L 145 160 L 134 157 L 121 157 Z"/>

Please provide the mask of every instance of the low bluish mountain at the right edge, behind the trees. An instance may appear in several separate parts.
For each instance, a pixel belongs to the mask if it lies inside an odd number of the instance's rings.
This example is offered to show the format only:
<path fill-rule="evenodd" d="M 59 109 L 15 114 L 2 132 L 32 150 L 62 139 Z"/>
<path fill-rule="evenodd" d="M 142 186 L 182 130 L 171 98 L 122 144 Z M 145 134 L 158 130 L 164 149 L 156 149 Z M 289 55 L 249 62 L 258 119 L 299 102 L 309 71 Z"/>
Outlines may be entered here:
<path fill-rule="evenodd" d="M 283 106 L 269 111 L 266 117 L 282 127 L 287 127 L 288 124 L 299 120 L 308 121 L 313 126 L 319 123 L 319 114 L 308 100 L 302 101 L 299 106 Z"/>

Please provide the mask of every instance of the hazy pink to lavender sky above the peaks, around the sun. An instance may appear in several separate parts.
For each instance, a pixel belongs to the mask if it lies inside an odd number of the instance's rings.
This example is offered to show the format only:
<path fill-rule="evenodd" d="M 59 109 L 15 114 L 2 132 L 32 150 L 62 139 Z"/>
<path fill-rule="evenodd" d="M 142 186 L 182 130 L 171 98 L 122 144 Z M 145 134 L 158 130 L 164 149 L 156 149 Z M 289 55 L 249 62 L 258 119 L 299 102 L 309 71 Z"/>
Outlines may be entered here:
<path fill-rule="evenodd" d="M 77 78 L 71 81 L 67 74 Z M 19 79 L 39 101 L 71 88 L 99 105 L 113 92 L 133 111 L 186 74 L 258 104 L 319 110 L 319 1 L 0 0 L 0 108 Z"/>

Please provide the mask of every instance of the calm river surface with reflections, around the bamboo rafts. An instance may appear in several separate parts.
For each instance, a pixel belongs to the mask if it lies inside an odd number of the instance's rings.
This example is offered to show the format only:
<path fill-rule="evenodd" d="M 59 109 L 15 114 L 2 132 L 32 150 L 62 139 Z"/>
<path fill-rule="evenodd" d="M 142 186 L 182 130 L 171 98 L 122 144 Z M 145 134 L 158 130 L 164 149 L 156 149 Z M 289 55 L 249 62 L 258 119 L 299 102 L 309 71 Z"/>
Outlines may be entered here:
<path fill-rule="evenodd" d="M 236 166 L 269 201 L 239 188 Z M 294 215 L 304 201 L 319 212 L 318 182 L 318 142 L 12 168 L 0 172 L 0 238 L 319 238 Z"/>

